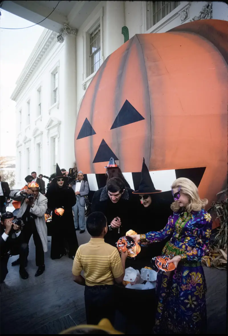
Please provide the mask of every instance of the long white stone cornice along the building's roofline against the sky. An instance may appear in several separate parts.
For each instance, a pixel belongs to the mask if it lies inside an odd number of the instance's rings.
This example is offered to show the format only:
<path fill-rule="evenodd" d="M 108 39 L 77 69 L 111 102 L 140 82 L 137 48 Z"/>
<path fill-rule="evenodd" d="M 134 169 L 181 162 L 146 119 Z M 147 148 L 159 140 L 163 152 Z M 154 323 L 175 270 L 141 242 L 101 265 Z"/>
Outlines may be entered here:
<path fill-rule="evenodd" d="M 57 35 L 58 34 L 56 32 L 48 30 L 41 40 L 40 45 L 38 47 L 36 46 L 37 49 L 36 47 L 34 48 L 34 53 L 31 54 L 31 59 L 28 59 L 27 64 L 25 64 L 25 67 L 17 80 L 17 86 L 14 89 L 10 99 L 14 101 L 17 100 L 21 90 L 26 85 L 26 82 L 32 76 L 33 72 L 38 67 L 49 48 L 53 45 L 53 43 L 56 43 Z"/>

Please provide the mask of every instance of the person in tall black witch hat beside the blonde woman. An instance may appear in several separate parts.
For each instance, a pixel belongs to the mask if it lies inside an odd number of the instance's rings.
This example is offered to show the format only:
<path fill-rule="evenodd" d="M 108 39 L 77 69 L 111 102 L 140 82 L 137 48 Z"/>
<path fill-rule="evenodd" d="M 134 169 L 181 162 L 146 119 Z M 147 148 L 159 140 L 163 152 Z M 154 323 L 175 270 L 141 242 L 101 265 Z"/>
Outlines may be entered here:
<path fill-rule="evenodd" d="M 161 196 L 161 192 L 161 190 L 155 189 L 145 164 L 145 159 L 143 159 L 140 185 L 138 190 L 133 192 L 133 194 L 138 195 L 141 202 L 139 214 L 140 232 L 160 231 L 166 226 L 169 216 L 172 215 L 171 203 Z M 135 258 L 139 266 L 150 266 L 152 257 L 159 256 L 162 253 L 163 247 L 168 240 L 169 238 L 160 243 L 150 244 L 148 248 L 142 248 Z M 145 265 L 142 265 L 142 262 Z"/>

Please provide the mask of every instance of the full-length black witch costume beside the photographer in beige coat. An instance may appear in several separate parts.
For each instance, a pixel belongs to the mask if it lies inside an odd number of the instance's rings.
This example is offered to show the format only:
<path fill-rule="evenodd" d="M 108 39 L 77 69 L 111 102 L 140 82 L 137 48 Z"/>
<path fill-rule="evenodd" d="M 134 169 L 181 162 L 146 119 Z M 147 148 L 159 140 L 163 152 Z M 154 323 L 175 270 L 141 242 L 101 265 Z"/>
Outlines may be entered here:
<path fill-rule="evenodd" d="M 63 178 L 64 184 L 59 187 L 57 179 Z M 65 241 L 69 246 L 69 258 L 74 258 L 78 248 L 77 236 L 74 228 L 72 206 L 76 203 L 76 197 L 72 188 L 67 186 L 68 177 L 63 176 L 58 164 L 56 164 L 56 177 L 52 180 L 46 193 L 48 208 L 52 210 L 52 240 L 51 258 L 59 259 L 66 255 Z M 64 212 L 55 212 L 63 208 Z"/>

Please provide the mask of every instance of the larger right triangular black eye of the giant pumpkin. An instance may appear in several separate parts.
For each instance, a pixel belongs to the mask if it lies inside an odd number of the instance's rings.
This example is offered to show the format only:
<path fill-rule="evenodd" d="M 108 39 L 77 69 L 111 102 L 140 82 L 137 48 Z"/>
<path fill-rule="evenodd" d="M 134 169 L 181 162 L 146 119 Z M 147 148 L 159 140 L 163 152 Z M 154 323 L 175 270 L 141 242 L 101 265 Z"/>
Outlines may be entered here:
<path fill-rule="evenodd" d="M 125 100 L 125 103 L 121 107 L 120 112 L 110 129 L 132 124 L 140 120 L 145 120 L 145 118 L 135 110 L 128 100 Z"/>

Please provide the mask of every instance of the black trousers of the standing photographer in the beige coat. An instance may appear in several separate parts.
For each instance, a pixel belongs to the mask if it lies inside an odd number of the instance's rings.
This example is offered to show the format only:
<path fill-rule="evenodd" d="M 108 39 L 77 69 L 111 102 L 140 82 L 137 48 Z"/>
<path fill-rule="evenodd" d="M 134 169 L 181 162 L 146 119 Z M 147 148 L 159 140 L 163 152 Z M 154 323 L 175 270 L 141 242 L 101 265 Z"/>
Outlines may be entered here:
<path fill-rule="evenodd" d="M 29 243 L 31 236 L 33 235 L 33 240 L 36 247 L 36 265 L 38 267 L 44 265 L 44 249 L 39 233 L 37 231 L 35 220 L 25 222 L 22 234 L 23 234 L 23 242 L 26 244 Z M 27 257 L 28 252 L 29 251 L 27 250 Z"/>

